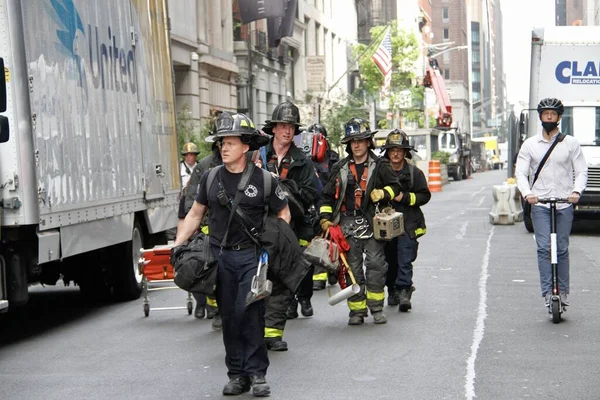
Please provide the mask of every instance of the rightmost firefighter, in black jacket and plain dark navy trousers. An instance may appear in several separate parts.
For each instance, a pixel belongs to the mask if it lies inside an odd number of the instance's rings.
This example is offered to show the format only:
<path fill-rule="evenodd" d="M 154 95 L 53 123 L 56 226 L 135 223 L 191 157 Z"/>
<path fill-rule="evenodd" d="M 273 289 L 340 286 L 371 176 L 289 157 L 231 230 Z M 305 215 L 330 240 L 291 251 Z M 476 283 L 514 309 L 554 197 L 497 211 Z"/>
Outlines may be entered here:
<path fill-rule="evenodd" d="M 421 206 L 429 202 L 431 192 L 423 171 L 408 162 L 412 158 L 411 150 L 414 147 L 410 145 L 404 131 L 394 129 L 390 132 L 383 149 L 383 157 L 390 161 L 403 188 L 392 205 L 402 213 L 405 230 L 404 234 L 385 245 L 385 257 L 389 265 L 386 279 L 388 305 L 399 306 L 400 311 L 407 312 L 412 308 L 410 299 L 415 291 L 412 263 L 417 259 L 419 250 L 417 239 L 426 232 Z"/>

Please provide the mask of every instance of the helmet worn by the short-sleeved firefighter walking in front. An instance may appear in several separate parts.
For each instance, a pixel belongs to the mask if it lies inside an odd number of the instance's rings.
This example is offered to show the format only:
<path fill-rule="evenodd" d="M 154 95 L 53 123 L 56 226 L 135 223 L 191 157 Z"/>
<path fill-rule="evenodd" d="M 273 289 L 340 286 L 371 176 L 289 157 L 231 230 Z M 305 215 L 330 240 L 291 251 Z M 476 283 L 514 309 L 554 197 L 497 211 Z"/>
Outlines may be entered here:
<path fill-rule="evenodd" d="M 229 136 L 239 136 L 242 143 L 250 145 L 250 150 L 257 150 L 269 142 L 266 135 L 261 134 L 254 122 L 244 114 L 222 112 L 215 121 L 216 133 L 212 141 Z"/>

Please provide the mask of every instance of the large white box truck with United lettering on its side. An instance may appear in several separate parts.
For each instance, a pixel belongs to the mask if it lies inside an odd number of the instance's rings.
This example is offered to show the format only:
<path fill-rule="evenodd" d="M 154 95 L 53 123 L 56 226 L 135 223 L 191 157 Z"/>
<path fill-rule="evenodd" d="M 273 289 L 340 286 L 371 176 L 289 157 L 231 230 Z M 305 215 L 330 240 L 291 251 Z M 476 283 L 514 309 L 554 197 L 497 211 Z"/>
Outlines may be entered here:
<path fill-rule="evenodd" d="M 166 0 L 0 0 L 0 62 L 0 307 L 139 297 L 181 186 Z"/>

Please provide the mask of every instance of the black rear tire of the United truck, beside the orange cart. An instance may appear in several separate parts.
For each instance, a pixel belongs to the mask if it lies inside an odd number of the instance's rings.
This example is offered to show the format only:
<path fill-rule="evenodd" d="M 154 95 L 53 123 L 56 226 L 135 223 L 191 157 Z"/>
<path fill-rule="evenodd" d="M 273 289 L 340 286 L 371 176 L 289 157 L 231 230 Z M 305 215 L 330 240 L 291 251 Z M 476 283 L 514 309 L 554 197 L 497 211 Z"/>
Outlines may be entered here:
<path fill-rule="evenodd" d="M 138 260 L 144 247 L 144 231 L 139 222 L 133 225 L 131 239 L 117 246 L 117 271 L 115 271 L 115 294 L 118 300 L 135 300 L 142 293 L 142 275 L 139 273 Z"/>

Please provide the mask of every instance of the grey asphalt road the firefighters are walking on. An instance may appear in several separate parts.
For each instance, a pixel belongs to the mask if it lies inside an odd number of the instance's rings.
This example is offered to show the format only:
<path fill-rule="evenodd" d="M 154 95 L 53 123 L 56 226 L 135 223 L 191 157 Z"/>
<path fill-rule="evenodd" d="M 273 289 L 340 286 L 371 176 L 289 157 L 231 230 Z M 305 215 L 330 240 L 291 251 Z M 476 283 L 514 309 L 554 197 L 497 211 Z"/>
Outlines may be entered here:
<path fill-rule="evenodd" d="M 532 234 L 489 223 L 504 177 L 451 182 L 424 207 L 412 312 L 386 306 L 386 325 L 348 326 L 346 305 L 316 292 L 315 316 L 288 323 L 290 350 L 270 353 L 271 398 L 600 398 L 600 228 L 576 225 L 572 305 L 553 324 Z M 186 303 L 180 290 L 151 295 L 153 307 Z M 86 305 L 77 288 L 34 288 L 0 323 L 2 399 L 220 398 L 227 381 L 220 333 L 185 310 L 146 318 L 141 300 Z"/>

